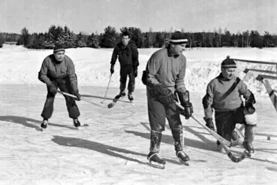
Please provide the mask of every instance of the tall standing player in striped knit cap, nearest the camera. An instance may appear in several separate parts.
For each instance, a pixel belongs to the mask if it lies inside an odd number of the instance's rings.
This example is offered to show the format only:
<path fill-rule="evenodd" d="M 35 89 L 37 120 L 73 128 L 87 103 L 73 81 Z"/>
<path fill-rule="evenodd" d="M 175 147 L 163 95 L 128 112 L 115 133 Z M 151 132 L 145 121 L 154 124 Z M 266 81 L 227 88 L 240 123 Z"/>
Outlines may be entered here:
<path fill-rule="evenodd" d="M 148 160 L 151 166 L 157 168 L 164 168 L 166 164 L 166 161 L 158 155 L 166 118 L 172 130 L 177 157 L 183 163 L 189 160 L 188 155 L 183 151 L 183 127 L 180 120 L 180 114 L 188 119 L 193 113 L 189 92 L 184 84 L 186 58 L 182 52 L 187 42 L 188 39 L 183 33 L 179 31 L 173 33 L 168 46 L 153 53 L 143 71 L 142 81 L 147 89 L 148 117 L 151 127 Z M 182 111 L 175 105 L 174 100 L 177 100 L 177 95 L 186 111 Z"/>

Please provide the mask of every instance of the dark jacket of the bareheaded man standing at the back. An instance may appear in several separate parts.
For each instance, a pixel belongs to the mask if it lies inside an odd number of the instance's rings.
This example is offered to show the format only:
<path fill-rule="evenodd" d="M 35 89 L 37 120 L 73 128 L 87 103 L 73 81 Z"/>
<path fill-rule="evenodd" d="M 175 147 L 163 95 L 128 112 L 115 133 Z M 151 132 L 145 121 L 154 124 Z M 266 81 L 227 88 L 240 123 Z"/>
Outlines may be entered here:
<path fill-rule="evenodd" d="M 120 67 L 132 66 L 136 70 L 139 66 L 139 51 L 132 42 L 129 42 L 127 46 L 124 46 L 122 42 L 116 44 L 111 56 L 111 65 L 116 64 L 117 58 Z"/>

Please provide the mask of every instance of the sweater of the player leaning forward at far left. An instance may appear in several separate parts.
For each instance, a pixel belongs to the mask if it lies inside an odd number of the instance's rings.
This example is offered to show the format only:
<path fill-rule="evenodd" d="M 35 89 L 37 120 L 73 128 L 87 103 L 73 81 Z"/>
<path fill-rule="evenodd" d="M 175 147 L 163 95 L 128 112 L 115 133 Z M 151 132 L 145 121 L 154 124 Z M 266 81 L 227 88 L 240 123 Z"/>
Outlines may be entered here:
<path fill-rule="evenodd" d="M 73 90 L 78 89 L 75 67 L 67 55 L 64 55 L 62 62 L 57 62 L 54 54 L 48 55 L 42 62 L 38 78 L 46 85 L 50 85 L 52 80 L 58 78 L 69 78 Z"/>

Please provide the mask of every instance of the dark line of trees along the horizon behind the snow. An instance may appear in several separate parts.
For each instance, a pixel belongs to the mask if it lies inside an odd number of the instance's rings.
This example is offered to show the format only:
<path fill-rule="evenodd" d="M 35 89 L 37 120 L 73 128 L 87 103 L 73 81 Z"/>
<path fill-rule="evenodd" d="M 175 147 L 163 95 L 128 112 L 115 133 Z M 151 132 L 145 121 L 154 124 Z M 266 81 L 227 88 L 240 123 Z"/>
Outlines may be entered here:
<path fill-rule="evenodd" d="M 3 42 L 17 41 L 18 45 L 24 45 L 29 49 L 53 49 L 56 43 L 64 44 L 66 48 L 91 47 L 91 48 L 113 48 L 120 42 L 120 33 L 128 30 L 131 34 L 132 42 L 138 48 L 161 48 L 163 47 L 172 33 L 153 32 L 152 28 L 148 32 L 141 32 L 140 28 L 123 27 L 118 33 L 116 28 L 107 26 L 104 33 L 88 35 L 87 33 L 75 34 L 67 26 L 52 25 L 45 33 L 28 32 L 24 27 L 21 34 L 0 33 L 0 46 Z M 275 47 L 277 46 L 277 35 L 271 35 L 265 32 L 262 35 L 257 30 L 246 30 L 242 33 L 230 33 L 221 28 L 213 32 L 185 32 L 181 30 L 188 38 L 187 47 Z"/>

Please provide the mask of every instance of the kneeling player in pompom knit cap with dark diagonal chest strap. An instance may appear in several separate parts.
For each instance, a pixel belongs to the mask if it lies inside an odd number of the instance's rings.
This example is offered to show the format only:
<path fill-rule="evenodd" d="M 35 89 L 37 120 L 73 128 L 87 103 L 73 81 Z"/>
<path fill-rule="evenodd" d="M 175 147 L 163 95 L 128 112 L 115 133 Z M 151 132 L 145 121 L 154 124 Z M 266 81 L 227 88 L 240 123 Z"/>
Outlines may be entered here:
<path fill-rule="evenodd" d="M 202 103 L 204 107 L 204 120 L 206 126 L 215 130 L 213 124 L 213 109 L 215 110 L 215 125 L 217 134 L 224 139 L 231 141 L 235 136 L 235 124 L 240 123 L 245 125 L 245 137 L 243 143 L 247 152 L 254 152 L 252 142 L 254 139 L 256 124 L 258 122 L 257 114 L 253 104 L 256 103 L 254 95 L 247 89 L 240 78 L 234 75 L 236 64 L 229 56 L 223 60 L 219 76 L 208 83 L 206 95 Z M 241 96 L 244 97 L 243 103 Z M 238 142 L 237 142 L 238 143 Z M 231 146 L 235 143 L 231 143 Z M 222 150 L 220 142 L 217 141 L 217 146 Z"/>

